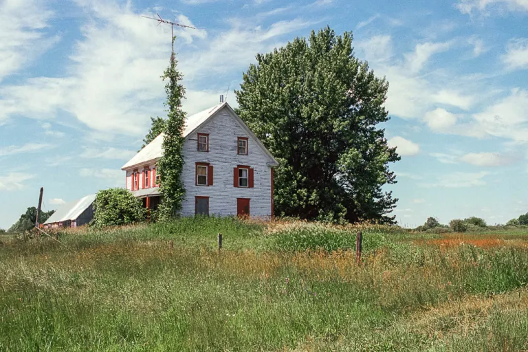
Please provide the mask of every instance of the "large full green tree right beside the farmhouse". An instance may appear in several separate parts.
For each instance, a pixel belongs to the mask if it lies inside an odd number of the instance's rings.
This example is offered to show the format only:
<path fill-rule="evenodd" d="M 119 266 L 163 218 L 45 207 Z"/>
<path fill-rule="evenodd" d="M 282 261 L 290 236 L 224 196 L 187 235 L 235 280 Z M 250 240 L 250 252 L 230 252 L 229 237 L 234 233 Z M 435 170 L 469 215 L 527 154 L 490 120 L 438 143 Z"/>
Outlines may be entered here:
<path fill-rule="evenodd" d="M 388 83 L 330 28 L 258 54 L 236 91 L 239 115 L 280 162 L 276 214 L 393 222 L 388 164 L 399 160 L 380 122 Z"/>

